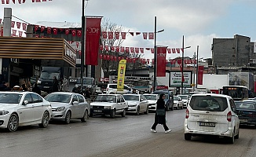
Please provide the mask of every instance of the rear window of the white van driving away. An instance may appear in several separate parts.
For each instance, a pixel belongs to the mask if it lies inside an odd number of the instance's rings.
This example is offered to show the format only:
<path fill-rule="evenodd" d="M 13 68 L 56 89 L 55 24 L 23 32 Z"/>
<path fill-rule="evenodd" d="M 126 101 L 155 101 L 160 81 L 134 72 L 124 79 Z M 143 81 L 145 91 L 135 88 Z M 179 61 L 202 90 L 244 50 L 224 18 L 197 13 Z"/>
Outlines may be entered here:
<path fill-rule="evenodd" d="M 228 103 L 225 97 L 192 96 L 189 106 L 193 110 L 225 111 Z"/>

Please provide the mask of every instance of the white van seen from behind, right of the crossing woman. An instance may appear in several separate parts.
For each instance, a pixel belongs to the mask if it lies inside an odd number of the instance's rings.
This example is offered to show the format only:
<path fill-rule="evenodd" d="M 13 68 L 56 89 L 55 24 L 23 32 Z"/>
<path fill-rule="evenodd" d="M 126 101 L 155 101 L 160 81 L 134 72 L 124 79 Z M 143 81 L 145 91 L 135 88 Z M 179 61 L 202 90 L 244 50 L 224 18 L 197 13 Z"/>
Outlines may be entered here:
<path fill-rule="evenodd" d="M 227 137 L 229 143 L 239 138 L 240 121 L 232 97 L 215 93 L 193 94 L 185 115 L 185 140 L 192 136 Z"/>

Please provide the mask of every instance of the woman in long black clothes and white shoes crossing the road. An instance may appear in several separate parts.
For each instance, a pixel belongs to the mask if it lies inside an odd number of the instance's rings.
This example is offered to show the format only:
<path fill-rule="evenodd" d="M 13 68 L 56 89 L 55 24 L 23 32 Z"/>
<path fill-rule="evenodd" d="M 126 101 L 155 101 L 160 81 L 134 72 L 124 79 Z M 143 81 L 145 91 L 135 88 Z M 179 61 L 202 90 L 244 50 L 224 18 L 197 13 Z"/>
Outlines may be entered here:
<path fill-rule="evenodd" d="M 156 126 L 158 124 L 162 124 L 163 128 L 165 130 L 164 133 L 170 133 L 170 129 L 168 126 L 166 126 L 166 105 L 164 102 L 165 94 L 161 93 L 159 96 L 159 100 L 156 102 L 156 111 L 155 111 L 155 122 L 151 128 L 151 131 L 153 133 L 156 133 L 157 131 L 155 130 Z"/>

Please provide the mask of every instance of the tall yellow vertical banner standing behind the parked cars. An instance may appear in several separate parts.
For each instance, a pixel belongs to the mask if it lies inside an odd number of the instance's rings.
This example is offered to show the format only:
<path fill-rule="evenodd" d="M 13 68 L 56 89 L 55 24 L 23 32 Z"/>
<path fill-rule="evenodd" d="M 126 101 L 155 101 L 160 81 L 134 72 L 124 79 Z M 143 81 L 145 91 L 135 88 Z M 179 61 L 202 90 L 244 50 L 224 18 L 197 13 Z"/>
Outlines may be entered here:
<path fill-rule="evenodd" d="M 124 77 L 126 75 L 126 60 L 119 61 L 119 71 L 117 75 L 117 90 L 123 91 Z"/>

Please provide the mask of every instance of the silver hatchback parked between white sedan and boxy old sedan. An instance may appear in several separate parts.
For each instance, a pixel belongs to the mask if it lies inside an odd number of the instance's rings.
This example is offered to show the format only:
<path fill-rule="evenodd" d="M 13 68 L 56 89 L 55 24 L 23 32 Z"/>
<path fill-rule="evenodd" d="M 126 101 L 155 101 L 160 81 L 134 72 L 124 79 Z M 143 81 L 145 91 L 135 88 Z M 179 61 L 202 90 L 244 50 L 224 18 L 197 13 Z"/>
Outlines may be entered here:
<path fill-rule="evenodd" d="M 90 104 L 79 93 L 54 92 L 49 93 L 45 99 L 52 104 L 51 120 L 64 120 L 68 124 L 71 119 L 81 119 L 82 122 L 86 122 L 89 117 Z"/>

